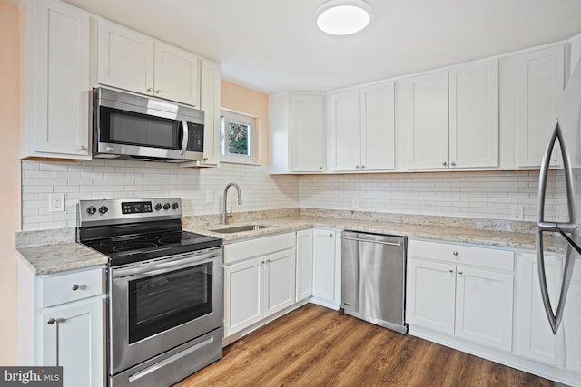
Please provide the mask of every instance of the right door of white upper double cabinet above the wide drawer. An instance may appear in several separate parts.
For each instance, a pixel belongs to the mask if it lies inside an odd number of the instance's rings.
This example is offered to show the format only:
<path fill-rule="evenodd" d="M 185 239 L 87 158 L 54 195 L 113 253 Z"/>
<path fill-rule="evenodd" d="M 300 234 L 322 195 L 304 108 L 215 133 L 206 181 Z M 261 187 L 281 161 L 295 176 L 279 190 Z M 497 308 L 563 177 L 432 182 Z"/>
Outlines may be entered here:
<path fill-rule="evenodd" d="M 449 166 L 498 166 L 498 61 L 449 71 Z"/>

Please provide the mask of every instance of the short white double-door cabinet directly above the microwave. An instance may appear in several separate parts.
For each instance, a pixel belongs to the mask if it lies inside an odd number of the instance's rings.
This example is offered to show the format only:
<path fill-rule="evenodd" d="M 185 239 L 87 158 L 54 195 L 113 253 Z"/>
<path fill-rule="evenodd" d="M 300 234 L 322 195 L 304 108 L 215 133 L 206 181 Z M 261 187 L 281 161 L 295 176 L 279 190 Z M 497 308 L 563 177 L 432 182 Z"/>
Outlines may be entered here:
<path fill-rule="evenodd" d="M 122 25 L 98 22 L 97 82 L 200 107 L 200 58 Z"/>

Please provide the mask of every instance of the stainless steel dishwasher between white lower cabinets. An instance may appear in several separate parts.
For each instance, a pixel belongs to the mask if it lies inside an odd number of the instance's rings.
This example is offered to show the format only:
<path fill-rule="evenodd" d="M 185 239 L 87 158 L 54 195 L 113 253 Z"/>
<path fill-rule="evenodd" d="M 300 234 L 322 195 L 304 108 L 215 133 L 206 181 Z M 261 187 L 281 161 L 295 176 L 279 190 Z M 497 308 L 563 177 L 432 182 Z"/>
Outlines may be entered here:
<path fill-rule="evenodd" d="M 407 237 L 341 233 L 341 305 L 346 314 L 408 333 L 407 245 Z"/>

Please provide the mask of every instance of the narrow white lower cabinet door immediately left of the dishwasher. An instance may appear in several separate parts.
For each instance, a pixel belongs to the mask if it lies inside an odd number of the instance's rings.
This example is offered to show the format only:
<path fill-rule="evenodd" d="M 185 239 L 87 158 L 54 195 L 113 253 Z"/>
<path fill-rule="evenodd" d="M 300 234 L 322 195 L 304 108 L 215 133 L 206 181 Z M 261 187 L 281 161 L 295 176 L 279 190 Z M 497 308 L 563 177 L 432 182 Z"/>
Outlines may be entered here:
<path fill-rule="evenodd" d="M 331 228 L 314 228 L 312 301 L 339 309 L 340 232 Z"/>

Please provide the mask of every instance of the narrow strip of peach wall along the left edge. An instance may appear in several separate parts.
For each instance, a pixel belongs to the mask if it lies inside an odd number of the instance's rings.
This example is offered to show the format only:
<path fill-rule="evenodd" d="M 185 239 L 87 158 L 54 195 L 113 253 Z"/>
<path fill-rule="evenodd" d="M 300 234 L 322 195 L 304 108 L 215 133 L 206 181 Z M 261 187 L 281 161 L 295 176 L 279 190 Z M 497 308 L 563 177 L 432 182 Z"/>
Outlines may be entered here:
<path fill-rule="evenodd" d="M 16 251 L 20 229 L 18 8 L 0 0 L 0 365 L 16 364 Z"/>

